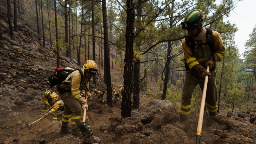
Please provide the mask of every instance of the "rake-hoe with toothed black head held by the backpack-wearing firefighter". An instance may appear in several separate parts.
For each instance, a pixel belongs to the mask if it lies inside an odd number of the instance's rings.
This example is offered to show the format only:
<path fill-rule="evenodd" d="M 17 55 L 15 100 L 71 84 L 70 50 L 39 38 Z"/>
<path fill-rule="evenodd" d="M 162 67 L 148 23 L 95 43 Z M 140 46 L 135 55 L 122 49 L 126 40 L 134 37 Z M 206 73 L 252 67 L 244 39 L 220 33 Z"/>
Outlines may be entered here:
<path fill-rule="evenodd" d="M 86 101 L 87 101 L 87 98 L 88 96 L 86 95 Z M 81 122 L 80 120 L 76 120 L 75 126 L 78 132 L 80 133 L 80 135 L 84 139 L 87 139 L 90 136 L 92 136 L 93 133 L 92 133 L 92 129 L 90 129 L 90 126 L 87 126 L 87 124 L 85 123 L 85 119 L 86 119 L 86 109 L 84 109 L 83 121 Z"/>

